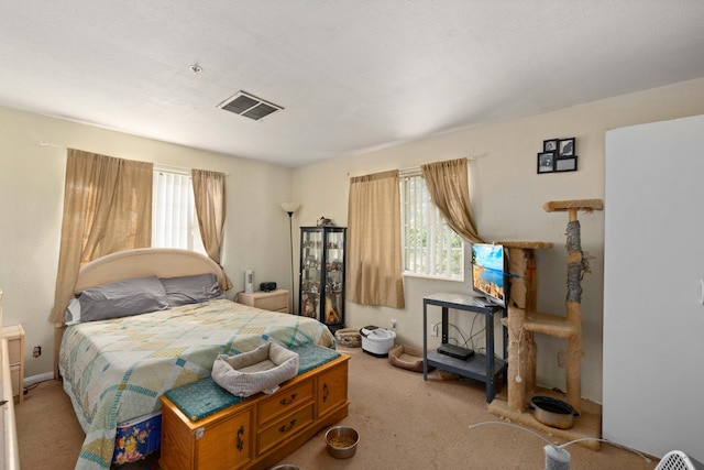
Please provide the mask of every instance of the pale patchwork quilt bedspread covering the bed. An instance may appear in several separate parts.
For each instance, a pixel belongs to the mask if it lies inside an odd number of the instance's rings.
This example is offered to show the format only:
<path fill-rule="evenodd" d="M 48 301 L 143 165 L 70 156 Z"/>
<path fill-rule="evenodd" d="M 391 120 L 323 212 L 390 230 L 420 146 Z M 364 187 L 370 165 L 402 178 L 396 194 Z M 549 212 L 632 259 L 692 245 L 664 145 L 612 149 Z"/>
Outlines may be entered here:
<path fill-rule="evenodd" d="M 58 367 L 86 431 L 76 468 L 109 468 L 119 423 L 158 411 L 166 391 L 209 376 L 219 353 L 265 341 L 334 348 L 319 321 L 227 299 L 68 327 Z"/>

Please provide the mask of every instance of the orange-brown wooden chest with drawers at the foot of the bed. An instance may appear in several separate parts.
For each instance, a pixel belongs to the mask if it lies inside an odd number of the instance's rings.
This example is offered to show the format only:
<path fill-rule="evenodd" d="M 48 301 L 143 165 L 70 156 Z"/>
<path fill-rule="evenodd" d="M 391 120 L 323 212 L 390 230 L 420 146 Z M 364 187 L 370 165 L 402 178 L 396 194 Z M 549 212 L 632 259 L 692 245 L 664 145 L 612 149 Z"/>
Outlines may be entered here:
<path fill-rule="evenodd" d="M 162 396 L 164 470 L 266 469 L 348 415 L 349 356 L 191 422 Z"/>

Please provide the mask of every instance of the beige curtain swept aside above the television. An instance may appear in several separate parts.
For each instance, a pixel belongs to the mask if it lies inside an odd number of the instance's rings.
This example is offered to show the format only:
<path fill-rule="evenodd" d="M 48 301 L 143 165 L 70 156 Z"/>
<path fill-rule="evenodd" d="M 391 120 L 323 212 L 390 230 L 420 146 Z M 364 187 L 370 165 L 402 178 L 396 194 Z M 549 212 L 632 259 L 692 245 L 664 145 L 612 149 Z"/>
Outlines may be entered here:
<path fill-rule="evenodd" d="M 421 165 L 430 197 L 450 228 L 463 239 L 481 243 L 470 205 L 466 159 Z"/>

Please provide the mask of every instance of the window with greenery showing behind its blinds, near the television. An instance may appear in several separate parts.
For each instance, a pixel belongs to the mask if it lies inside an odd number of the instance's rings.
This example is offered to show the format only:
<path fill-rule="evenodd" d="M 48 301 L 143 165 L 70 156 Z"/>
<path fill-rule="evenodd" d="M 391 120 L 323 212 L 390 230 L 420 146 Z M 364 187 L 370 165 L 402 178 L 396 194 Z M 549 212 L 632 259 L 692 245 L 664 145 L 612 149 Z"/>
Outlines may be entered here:
<path fill-rule="evenodd" d="M 404 274 L 464 281 L 464 242 L 432 204 L 420 172 L 400 178 Z"/>

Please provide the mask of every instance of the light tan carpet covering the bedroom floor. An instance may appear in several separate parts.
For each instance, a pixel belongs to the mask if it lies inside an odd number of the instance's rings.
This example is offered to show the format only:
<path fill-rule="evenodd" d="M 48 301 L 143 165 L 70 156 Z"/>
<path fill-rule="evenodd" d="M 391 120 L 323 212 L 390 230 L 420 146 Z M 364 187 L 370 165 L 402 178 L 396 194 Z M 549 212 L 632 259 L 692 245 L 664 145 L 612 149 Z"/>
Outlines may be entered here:
<path fill-rule="evenodd" d="M 471 380 L 438 380 L 398 369 L 361 349 L 340 348 L 351 356 L 349 416 L 341 424 L 360 433 L 356 453 L 345 460 L 329 456 L 318 433 L 279 463 L 318 469 L 543 469 L 543 447 L 556 436 L 506 425 L 487 409 L 484 384 Z M 29 391 L 16 405 L 22 469 L 72 469 L 84 433 L 61 383 L 48 381 Z M 481 425 L 479 423 L 503 423 Z M 571 468 L 654 469 L 629 450 L 603 444 L 600 450 L 570 445 Z M 158 468 L 153 460 L 130 469 Z"/>

